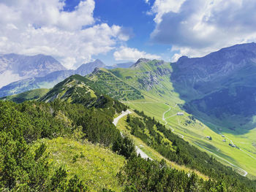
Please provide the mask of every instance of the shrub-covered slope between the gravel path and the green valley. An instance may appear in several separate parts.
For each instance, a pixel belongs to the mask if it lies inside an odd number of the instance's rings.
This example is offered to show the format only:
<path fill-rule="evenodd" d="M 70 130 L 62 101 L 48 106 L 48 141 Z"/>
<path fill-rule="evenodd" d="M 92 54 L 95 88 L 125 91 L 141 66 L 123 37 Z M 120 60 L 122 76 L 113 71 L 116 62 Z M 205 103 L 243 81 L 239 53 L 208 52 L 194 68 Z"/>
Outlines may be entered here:
<path fill-rule="evenodd" d="M 209 156 L 196 147 L 189 145 L 184 139 L 173 134 L 172 131 L 165 128 L 164 125 L 154 118 L 148 118 L 143 112 L 135 110 L 134 113 L 125 118 L 119 128 L 123 132 L 140 139 L 144 146 L 147 145 L 156 150 L 167 160 L 176 162 L 176 164 L 181 166 L 185 165 L 190 169 L 195 169 L 201 175 L 202 173 L 207 175 L 211 180 L 218 180 L 219 175 L 225 174 L 222 177 L 222 181 L 227 178 L 228 180 L 236 178 L 242 181 L 242 183 L 249 181 L 246 177 L 242 177 L 238 173 L 235 174 L 229 167 L 220 164 L 213 156 Z M 149 151 L 151 150 L 146 151 L 150 153 Z M 176 165 L 173 166 L 175 167 Z M 251 185 L 249 183 L 248 185 Z"/>

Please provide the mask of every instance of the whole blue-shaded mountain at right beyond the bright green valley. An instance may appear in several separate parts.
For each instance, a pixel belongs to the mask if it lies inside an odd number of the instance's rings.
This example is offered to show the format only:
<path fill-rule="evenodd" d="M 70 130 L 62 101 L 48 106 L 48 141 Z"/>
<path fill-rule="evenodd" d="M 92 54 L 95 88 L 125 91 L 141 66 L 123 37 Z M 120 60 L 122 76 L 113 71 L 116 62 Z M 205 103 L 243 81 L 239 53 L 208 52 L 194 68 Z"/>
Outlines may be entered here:
<path fill-rule="evenodd" d="M 170 81 L 188 112 L 245 131 L 256 126 L 255 74 L 256 44 L 248 43 L 202 58 L 181 57 L 173 64 Z"/>

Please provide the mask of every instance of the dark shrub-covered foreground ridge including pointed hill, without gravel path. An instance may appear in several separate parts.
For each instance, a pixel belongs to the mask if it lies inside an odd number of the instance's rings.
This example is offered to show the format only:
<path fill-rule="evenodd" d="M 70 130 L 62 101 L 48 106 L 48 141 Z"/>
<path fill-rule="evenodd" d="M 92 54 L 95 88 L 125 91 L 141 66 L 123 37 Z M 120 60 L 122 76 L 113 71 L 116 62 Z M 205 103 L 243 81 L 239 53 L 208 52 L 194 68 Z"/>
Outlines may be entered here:
<path fill-rule="evenodd" d="M 127 117 L 130 134 L 208 179 L 138 157 L 112 123 L 127 106 L 102 95 L 103 87 L 75 75 L 39 101 L 0 101 L 1 191 L 256 191 L 255 182 L 136 111 Z"/>

